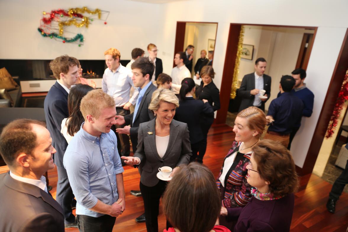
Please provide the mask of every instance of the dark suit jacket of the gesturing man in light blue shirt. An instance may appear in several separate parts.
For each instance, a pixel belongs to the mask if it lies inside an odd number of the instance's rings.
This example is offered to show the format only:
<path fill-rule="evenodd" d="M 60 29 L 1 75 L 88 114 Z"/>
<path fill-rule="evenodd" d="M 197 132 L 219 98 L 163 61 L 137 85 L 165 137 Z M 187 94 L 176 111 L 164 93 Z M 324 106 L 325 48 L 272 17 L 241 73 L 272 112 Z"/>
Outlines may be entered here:
<path fill-rule="evenodd" d="M 138 112 L 136 115 L 134 113 L 125 115 L 125 121 L 126 125 L 130 125 L 130 141 L 132 141 L 132 148 L 133 152 L 136 151 L 136 146 L 138 144 L 138 130 L 139 130 L 139 124 L 142 122 L 148 122 L 155 118 L 155 115 L 153 115 L 152 111 L 149 110 L 149 105 L 151 102 L 151 97 L 153 91 L 155 91 L 157 88 L 152 83 L 149 86 L 149 88 L 146 90 L 143 98 L 141 99 L 140 106 L 138 109 Z M 133 123 L 133 117 L 135 117 L 134 123 Z"/>

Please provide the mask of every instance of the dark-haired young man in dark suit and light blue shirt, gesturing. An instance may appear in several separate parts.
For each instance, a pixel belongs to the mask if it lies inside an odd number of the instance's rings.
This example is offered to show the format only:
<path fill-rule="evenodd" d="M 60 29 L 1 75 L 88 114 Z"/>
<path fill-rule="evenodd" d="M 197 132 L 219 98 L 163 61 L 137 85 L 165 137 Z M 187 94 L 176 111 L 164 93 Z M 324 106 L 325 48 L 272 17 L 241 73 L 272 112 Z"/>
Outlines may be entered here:
<path fill-rule="evenodd" d="M 148 122 L 155 118 L 155 115 L 148 109 L 153 91 L 156 87 L 152 84 L 151 78 L 154 71 L 153 64 L 148 58 L 140 57 L 132 64 L 133 83 L 135 87 L 139 87 L 139 95 L 135 104 L 134 112 L 125 116 L 117 115 L 116 123 L 118 125 L 130 125 L 124 128 L 117 128 L 116 132 L 121 134 L 130 135 L 130 141 L 132 141 L 133 153 L 136 151 L 138 145 L 138 130 L 139 124 L 142 122 Z M 139 169 L 141 174 L 141 169 Z M 140 196 L 140 191 L 130 191 L 135 196 Z M 136 218 L 137 222 L 145 222 L 145 215 L 142 214 Z"/>

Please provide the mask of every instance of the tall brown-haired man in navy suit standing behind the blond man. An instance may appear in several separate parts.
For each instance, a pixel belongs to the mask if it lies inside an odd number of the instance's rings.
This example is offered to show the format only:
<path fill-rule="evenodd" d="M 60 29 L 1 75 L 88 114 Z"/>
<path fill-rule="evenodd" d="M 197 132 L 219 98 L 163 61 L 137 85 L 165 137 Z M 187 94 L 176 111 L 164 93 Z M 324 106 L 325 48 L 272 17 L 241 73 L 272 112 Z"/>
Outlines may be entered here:
<path fill-rule="evenodd" d="M 74 195 L 63 166 L 63 156 L 68 143 L 61 133 L 61 125 L 62 120 L 69 117 L 68 94 L 70 87 L 76 83 L 79 77 L 79 62 L 74 57 L 64 55 L 55 58 L 49 66 L 57 79 L 48 91 L 44 102 L 47 129 L 52 136 L 52 144 L 57 150 L 54 155 L 54 163 L 58 173 L 56 200 L 63 207 L 65 227 L 77 227 L 71 209 Z"/>

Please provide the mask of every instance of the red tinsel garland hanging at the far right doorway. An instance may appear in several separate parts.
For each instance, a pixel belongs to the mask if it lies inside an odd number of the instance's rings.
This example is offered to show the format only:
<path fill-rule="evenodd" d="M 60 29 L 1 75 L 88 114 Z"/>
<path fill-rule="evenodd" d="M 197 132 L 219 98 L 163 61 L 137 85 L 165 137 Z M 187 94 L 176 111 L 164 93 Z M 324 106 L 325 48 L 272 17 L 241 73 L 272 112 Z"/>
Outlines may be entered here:
<path fill-rule="evenodd" d="M 338 118 L 340 117 L 341 111 L 343 109 L 343 105 L 348 100 L 348 70 L 346 71 L 345 79 L 343 80 L 341 90 L 338 94 L 338 98 L 333 109 L 329 127 L 326 130 L 326 138 L 332 137 L 338 123 Z"/>

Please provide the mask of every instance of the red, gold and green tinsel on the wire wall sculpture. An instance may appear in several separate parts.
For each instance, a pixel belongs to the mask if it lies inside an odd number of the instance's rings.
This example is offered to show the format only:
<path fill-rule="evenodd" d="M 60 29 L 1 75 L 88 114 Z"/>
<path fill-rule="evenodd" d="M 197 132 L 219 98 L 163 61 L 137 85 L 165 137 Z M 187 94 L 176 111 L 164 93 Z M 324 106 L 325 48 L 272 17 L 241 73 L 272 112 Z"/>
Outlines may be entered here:
<path fill-rule="evenodd" d="M 70 8 L 69 10 L 52 10 L 49 14 L 42 11 L 44 15 L 40 21 L 38 31 L 43 37 L 61 40 L 63 43 L 77 43 L 79 47 L 83 45 L 84 36 L 80 33 L 73 33 L 64 30 L 64 27 L 76 26 L 77 28 L 86 27 L 93 22 L 94 19 L 104 21 L 108 19 L 110 11 L 95 9 L 90 10 L 87 7 Z M 63 35 L 64 32 L 73 34 L 74 36 Z"/>

